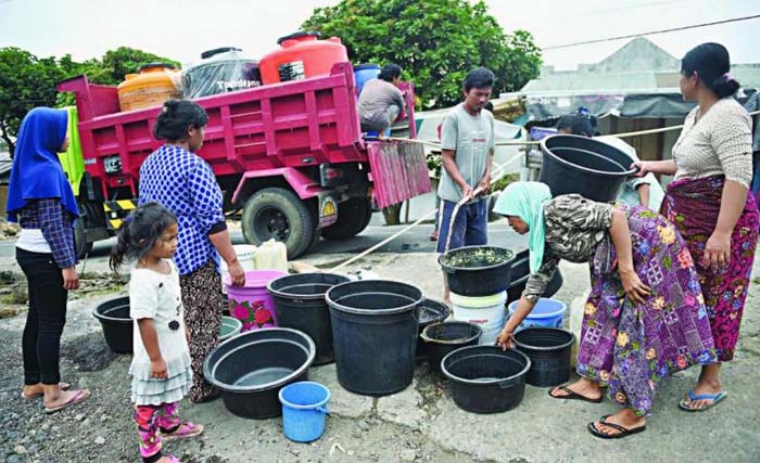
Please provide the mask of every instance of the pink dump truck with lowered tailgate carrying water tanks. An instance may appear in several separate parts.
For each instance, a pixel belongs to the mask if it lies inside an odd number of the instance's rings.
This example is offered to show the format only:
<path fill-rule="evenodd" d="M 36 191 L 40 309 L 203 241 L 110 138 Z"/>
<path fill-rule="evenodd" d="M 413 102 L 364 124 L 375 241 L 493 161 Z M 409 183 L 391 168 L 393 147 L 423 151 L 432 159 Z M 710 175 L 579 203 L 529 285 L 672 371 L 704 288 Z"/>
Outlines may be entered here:
<path fill-rule="evenodd" d="M 86 76 L 59 83 L 74 92 L 85 164 L 78 200 L 80 253 L 114 234 L 139 196 L 139 169 L 161 146 L 160 107 L 119 112 L 115 87 Z M 414 138 L 414 88 L 404 85 Z M 225 211 L 242 210 L 245 241 L 284 242 L 289 257 L 320 236 L 351 237 L 382 208 L 430 191 L 422 146 L 365 141 L 351 63 L 329 75 L 194 100 L 208 113 L 198 155 L 214 170 Z"/>

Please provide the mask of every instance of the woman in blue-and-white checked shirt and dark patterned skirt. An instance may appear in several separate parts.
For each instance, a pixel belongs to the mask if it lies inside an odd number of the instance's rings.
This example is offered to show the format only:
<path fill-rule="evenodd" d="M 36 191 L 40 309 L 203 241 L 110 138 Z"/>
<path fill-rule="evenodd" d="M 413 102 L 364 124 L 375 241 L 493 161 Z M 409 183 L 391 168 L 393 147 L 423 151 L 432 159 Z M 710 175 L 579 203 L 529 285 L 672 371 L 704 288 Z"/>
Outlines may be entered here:
<path fill-rule="evenodd" d="M 195 403 L 216 395 L 203 378 L 203 360 L 219 344 L 224 304 L 219 255 L 229 267 L 232 284 L 245 284 L 227 231 L 221 190 L 211 166 L 194 154 L 203 145 L 207 123 L 206 112 L 198 104 L 167 101 L 153 127 L 153 136 L 166 144 L 140 167 L 139 205 L 159 203 L 177 216 L 179 224 L 175 262 L 190 331 L 193 382 L 189 398 Z"/>

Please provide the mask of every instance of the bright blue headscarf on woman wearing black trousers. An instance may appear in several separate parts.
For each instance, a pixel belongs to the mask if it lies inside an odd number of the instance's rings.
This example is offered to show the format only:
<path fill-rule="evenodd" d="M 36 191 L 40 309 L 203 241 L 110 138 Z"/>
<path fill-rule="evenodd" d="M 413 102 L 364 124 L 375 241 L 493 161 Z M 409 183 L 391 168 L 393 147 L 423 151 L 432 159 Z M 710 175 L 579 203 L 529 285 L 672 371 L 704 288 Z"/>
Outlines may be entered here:
<path fill-rule="evenodd" d="M 18 210 L 29 200 L 45 197 L 61 198 L 66 210 L 79 216 L 76 197 L 58 157 L 66 138 L 67 121 L 65 110 L 36 107 L 21 123 L 8 191 L 10 221 L 18 220 Z"/>

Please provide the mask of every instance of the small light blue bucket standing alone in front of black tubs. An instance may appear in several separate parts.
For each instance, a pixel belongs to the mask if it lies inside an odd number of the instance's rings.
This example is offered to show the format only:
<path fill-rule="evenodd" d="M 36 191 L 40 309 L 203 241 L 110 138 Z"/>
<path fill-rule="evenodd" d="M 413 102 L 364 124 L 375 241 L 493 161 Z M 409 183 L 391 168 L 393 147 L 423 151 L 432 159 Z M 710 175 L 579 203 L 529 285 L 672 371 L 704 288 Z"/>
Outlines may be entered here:
<path fill-rule="evenodd" d="M 302 381 L 280 389 L 282 430 L 295 442 L 317 440 L 325 433 L 330 390 L 319 383 Z"/>

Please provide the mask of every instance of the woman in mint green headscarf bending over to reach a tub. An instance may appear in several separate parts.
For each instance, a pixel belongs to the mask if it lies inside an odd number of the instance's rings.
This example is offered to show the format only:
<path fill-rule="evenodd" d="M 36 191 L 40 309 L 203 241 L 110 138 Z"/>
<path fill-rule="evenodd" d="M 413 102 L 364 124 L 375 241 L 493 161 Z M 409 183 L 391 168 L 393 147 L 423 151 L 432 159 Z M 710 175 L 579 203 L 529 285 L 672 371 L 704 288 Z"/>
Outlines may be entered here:
<path fill-rule="evenodd" d="M 612 206 L 577 194 L 552 197 L 539 182 L 509 184 L 494 210 L 529 234 L 530 271 L 515 314 L 497 343 L 512 333 L 552 280 L 559 259 L 590 262 L 592 291 L 584 309 L 578 353 L 581 378 L 555 387 L 555 399 L 624 406 L 588 423 L 601 438 L 646 427 L 658 384 L 674 371 L 715 361 L 701 288 L 683 239 L 662 216 L 643 207 Z"/>

